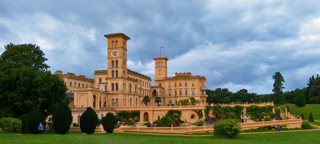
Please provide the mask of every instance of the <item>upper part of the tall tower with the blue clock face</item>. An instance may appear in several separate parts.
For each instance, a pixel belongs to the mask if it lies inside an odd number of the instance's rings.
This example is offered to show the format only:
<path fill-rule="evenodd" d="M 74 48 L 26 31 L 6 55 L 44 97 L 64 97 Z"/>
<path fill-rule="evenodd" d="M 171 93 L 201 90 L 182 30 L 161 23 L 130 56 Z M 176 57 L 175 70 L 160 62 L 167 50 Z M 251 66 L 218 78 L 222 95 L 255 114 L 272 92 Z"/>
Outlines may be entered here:
<path fill-rule="evenodd" d="M 104 35 L 108 39 L 108 79 L 127 77 L 127 40 L 123 33 Z"/>

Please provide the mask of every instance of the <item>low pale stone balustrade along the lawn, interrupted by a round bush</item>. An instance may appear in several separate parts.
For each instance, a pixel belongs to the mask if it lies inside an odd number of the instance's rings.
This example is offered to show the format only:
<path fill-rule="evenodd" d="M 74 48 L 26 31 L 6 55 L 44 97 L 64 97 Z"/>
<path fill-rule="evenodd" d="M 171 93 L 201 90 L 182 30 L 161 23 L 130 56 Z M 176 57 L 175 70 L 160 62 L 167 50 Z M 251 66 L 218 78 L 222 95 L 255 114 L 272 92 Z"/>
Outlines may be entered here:
<path fill-rule="evenodd" d="M 254 122 L 254 123 L 241 123 L 242 130 L 257 128 L 262 126 L 275 126 L 275 125 L 294 125 L 292 127 L 301 127 L 302 119 L 289 119 L 278 121 Z M 202 133 L 212 132 L 213 126 L 196 126 L 196 127 L 119 127 L 119 131 L 134 131 L 134 132 L 154 132 L 154 133 Z"/>

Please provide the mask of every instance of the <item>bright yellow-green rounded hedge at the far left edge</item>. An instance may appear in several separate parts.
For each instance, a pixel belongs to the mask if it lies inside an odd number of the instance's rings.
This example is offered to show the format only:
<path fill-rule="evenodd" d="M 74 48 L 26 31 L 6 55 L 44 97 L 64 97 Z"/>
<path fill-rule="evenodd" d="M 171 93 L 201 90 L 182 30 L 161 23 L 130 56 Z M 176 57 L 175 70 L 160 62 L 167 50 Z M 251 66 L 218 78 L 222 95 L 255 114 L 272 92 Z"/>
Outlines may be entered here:
<path fill-rule="evenodd" d="M 6 132 L 21 133 L 21 120 L 17 118 L 2 118 L 0 128 Z"/>

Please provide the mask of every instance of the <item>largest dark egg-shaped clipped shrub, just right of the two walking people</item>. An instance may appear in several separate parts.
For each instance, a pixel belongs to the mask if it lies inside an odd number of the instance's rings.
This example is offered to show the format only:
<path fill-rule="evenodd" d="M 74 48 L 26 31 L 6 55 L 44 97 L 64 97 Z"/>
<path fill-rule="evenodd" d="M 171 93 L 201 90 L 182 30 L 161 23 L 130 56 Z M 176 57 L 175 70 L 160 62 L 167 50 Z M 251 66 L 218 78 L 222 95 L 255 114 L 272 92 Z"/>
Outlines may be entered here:
<path fill-rule="evenodd" d="M 52 115 L 54 131 L 59 134 L 66 134 L 72 123 L 72 112 L 68 104 L 59 103 Z"/>

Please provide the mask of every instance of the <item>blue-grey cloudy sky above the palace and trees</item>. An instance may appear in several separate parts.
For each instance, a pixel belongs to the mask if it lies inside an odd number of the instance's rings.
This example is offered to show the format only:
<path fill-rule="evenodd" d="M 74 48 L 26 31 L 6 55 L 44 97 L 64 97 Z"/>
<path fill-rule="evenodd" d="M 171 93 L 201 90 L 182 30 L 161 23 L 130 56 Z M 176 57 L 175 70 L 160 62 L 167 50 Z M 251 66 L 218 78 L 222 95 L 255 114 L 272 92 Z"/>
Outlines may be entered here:
<path fill-rule="evenodd" d="M 211 90 L 272 93 L 277 71 L 294 90 L 320 73 L 319 1 L 0 1 L 0 53 L 37 44 L 51 71 L 93 78 L 117 30 L 128 68 L 152 79 L 159 45 L 169 76 L 205 76 Z"/>

